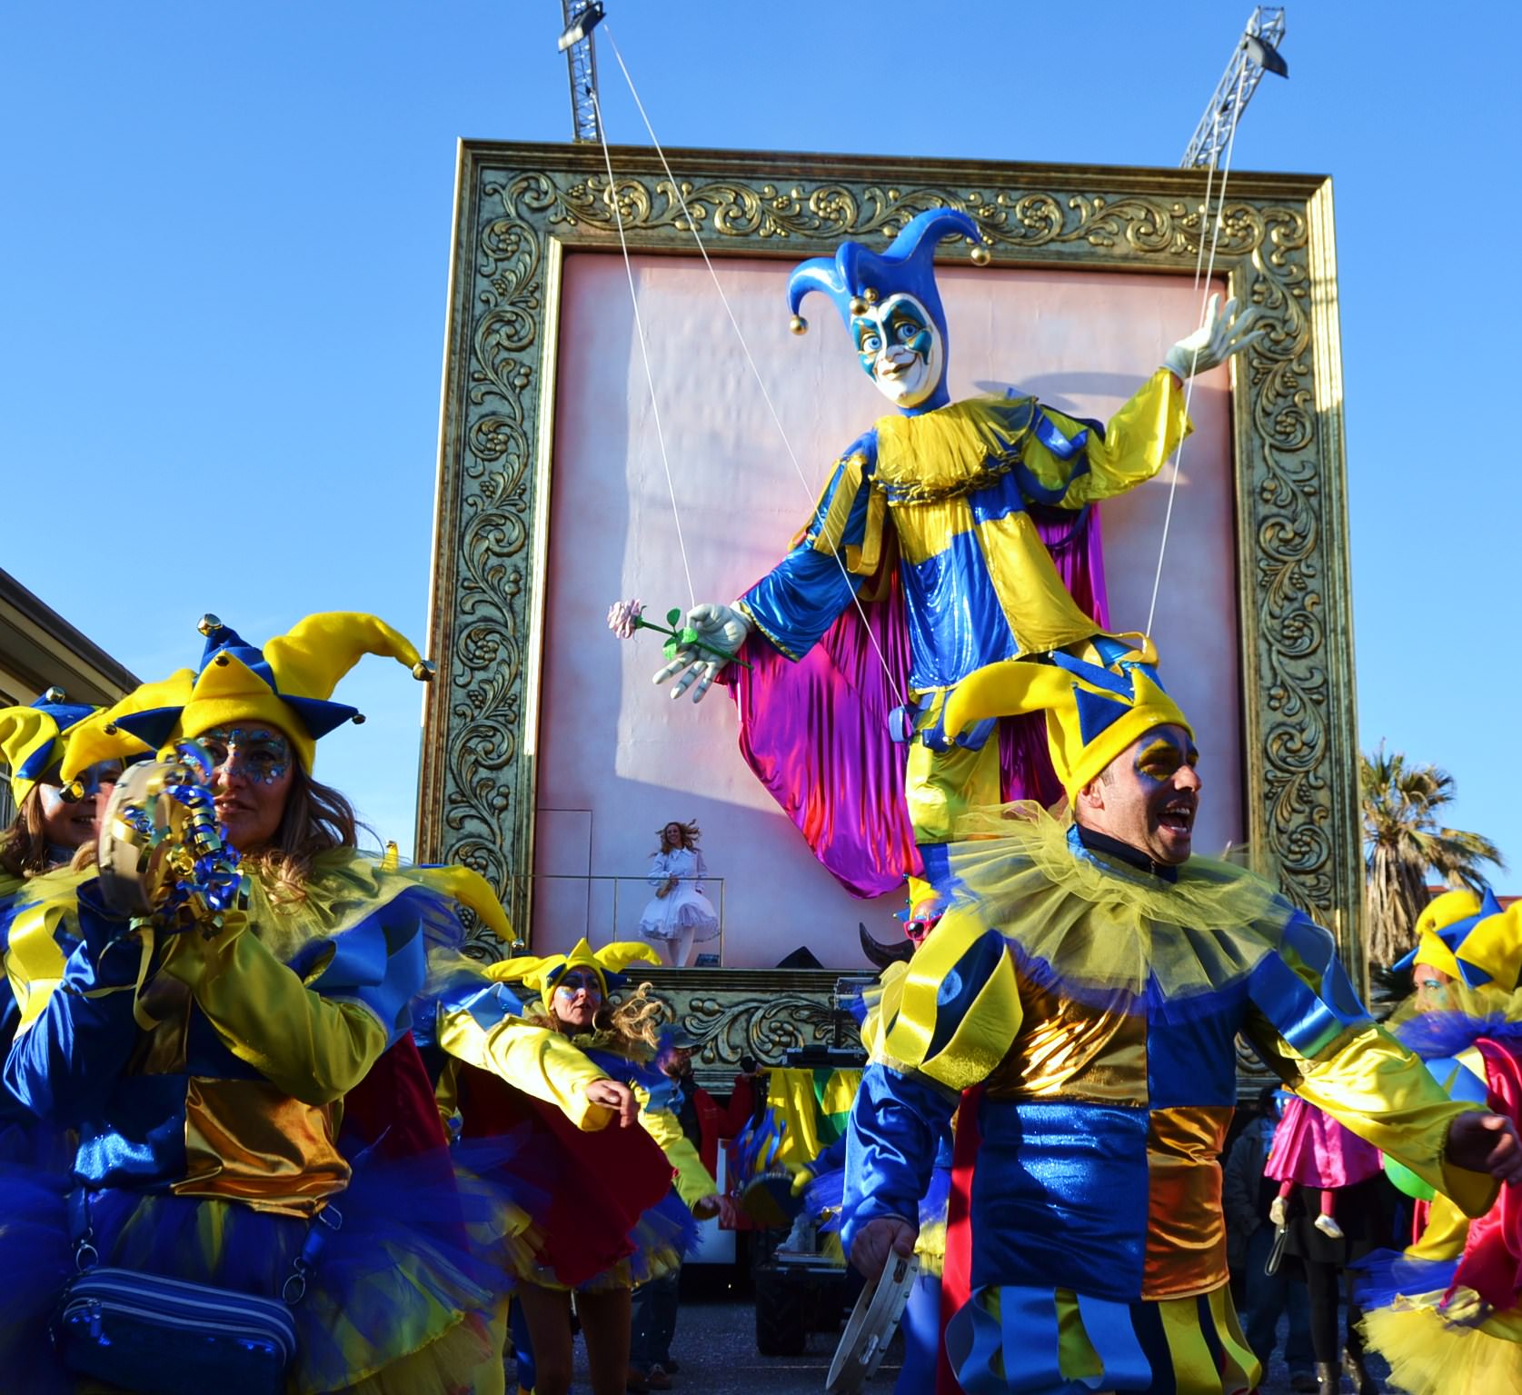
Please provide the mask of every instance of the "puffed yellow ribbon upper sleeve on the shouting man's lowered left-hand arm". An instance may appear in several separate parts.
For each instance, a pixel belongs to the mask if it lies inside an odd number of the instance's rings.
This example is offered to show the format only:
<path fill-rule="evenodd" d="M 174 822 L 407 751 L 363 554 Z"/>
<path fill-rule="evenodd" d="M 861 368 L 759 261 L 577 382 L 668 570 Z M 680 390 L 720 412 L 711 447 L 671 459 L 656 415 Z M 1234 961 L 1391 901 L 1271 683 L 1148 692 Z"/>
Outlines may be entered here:
<path fill-rule="evenodd" d="M 971 909 L 951 911 L 930 932 L 901 979 L 896 1013 L 890 1014 L 890 996 L 883 994 L 884 1026 L 874 1060 L 901 1072 L 919 1071 L 953 1090 L 971 1089 L 994 1071 L 1024 1020 L 1008 952 L 982 984 L 941 1002 L 942 985 L 983 935 L 997 931 L 985 931 Z M 948 1022 L 948 1031 L 938 1036 L 942 1011 L 954 1025 Z"/>

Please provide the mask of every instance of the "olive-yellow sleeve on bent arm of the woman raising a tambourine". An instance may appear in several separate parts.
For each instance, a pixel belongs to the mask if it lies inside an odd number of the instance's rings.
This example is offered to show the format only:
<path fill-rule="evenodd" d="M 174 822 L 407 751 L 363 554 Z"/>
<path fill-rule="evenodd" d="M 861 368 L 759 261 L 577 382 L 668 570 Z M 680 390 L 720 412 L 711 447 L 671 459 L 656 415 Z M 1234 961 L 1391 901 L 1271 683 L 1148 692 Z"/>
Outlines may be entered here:
<path fill-rule="evenodd" d="M 388 1043 L 368 1008 L 303 987 L 247 923 L 213 940 L 175 935 L 160 972 L 190 990 L 233 1055 L 303 1104 L 339 1100 Z"/>

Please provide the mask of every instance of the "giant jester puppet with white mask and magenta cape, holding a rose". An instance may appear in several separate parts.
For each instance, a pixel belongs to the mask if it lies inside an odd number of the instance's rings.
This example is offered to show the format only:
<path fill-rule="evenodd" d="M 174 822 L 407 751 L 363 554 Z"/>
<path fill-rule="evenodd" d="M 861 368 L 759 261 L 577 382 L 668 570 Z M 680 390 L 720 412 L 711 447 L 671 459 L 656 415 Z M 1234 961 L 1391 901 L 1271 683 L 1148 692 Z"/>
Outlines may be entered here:
<path fill-rule="evenodd" d="M 814 854 L 857 895 L 909 874 L 925 908 L 959 810 L 1059 795 L 1038 726 L 948 734 L 948 693 L 1003 659 L 1065 649 L 1105 662 L 1131 647 L 1105 635 L 1091 506 L 1158 472 L 1190 429 L 1183 381 L 1259 335 L 1254 311 L 1233 302 L 1218 317 L 1213 300 L 1108 423 L 1029 396 L 953 402 L 933 265 L 947 235 L 986 260 L 977 224 L 936 209 L 881 254 L 843 242 L 793 271 L 793 329 L 807 329 L 808 292 L 828 295 L 895 414 L 840 454 L 767 576 L 732 605 L 688 612 L 697 643 L 656 675 L 696 702 L 728 666 L 741 751 Z M 741 646 L 749 667 L 729 666 Z"/>

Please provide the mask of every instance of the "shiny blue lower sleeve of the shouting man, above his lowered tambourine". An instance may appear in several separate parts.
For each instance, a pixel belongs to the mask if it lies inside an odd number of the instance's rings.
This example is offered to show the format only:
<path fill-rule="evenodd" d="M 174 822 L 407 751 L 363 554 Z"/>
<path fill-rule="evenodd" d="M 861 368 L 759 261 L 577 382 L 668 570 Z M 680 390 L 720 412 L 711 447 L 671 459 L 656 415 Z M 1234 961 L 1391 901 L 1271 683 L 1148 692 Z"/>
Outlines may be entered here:
<path fill-rule="evenodd" d="M 868 1221 L 895 1217 L 916 1223 L 957 1098 L 922 1075 L 877 1061 L 861 1074 L 846 1128 L 840 1241 L 848 1255 Z"/>

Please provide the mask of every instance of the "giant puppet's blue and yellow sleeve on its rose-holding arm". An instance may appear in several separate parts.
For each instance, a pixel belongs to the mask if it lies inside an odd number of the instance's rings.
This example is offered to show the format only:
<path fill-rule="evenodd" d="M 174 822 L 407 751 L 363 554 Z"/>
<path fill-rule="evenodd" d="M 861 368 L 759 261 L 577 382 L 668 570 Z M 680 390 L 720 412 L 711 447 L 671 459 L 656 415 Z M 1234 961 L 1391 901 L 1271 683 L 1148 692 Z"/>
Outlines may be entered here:
<path fill-rule="evenodd" d="M 887 501 L 874 487 L 877 433 L 836 463 L 793 550 L 741 599 L 746 617 L 790 659 L 802 658 L 881 560 Z"/>

